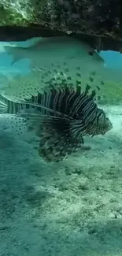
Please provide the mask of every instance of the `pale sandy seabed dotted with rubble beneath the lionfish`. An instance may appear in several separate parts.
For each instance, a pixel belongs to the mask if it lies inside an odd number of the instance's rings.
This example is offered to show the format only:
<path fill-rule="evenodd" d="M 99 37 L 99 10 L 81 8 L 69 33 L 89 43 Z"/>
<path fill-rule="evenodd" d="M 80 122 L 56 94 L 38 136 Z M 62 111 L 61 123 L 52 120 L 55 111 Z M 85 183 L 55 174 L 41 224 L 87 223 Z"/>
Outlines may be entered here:
<path fill-rule="evenodd" d="M 0 256 L 122 255 L 122 107 L 113 130 L 58 164 L 0 129 Z"/>

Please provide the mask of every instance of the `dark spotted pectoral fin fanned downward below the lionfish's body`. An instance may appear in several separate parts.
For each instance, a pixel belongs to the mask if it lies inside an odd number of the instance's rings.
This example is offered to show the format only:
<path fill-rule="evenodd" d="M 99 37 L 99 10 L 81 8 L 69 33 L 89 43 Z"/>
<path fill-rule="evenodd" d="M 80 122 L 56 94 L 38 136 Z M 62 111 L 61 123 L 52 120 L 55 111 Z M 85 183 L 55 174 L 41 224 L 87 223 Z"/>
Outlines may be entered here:
<path fill-rule="evenodd" d="M 40 138 L 39 155 L 46 161 L 62 161 L 78 150 L 82 139 L 73 139 L 70 132 L 72 121 L 65 117 L 47 117 Z"/>

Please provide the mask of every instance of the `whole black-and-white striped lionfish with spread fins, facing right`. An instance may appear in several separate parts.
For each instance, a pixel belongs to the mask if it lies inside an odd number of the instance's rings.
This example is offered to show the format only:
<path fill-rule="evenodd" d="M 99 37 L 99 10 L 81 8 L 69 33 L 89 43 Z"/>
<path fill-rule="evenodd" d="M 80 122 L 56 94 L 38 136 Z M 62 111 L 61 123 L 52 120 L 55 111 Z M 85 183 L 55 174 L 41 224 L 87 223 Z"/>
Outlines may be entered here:
<path fill-rule="evenodd" d="M 43 91 L 40 89 L 30 98 L 11 100 L 1 95 L 2 111 L 24 117 L 28 128 L 35 130 L 39 136 L 39 155 L 46 161 L 68 158 L 83 147 L 84 136 L 104 135 L 113 128 L 95 102 L 95 90 L 91 91 L 89 84 L 81 90 L 80 75 L 78 72 L 74 86 L 72 77 L 61 71 L 46 82 Z"/>

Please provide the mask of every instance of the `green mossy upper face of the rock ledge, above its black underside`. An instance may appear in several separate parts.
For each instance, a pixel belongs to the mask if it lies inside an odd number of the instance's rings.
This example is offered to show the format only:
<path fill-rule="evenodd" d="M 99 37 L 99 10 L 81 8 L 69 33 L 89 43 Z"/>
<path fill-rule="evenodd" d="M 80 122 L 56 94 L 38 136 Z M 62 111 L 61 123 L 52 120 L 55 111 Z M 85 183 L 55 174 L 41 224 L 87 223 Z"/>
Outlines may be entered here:
<path fill-rule="evenodd" d="M 88 35 L 120 35 L 120 2 L 91 0 L 0 0 L 0 25 L 39 25 Z"/>

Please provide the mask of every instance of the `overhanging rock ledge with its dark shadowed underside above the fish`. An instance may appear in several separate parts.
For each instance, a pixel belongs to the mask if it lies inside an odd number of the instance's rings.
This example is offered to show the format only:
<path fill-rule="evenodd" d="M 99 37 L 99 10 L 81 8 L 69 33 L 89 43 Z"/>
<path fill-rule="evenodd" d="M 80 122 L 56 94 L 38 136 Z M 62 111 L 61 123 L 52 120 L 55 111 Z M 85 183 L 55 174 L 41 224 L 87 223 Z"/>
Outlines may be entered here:
<path fill-rule="evenodd" d="M 120 0 L 1 0 L 0 39 L 67 34 L 91 42 L 100 50 L 122 47 Z"/>

